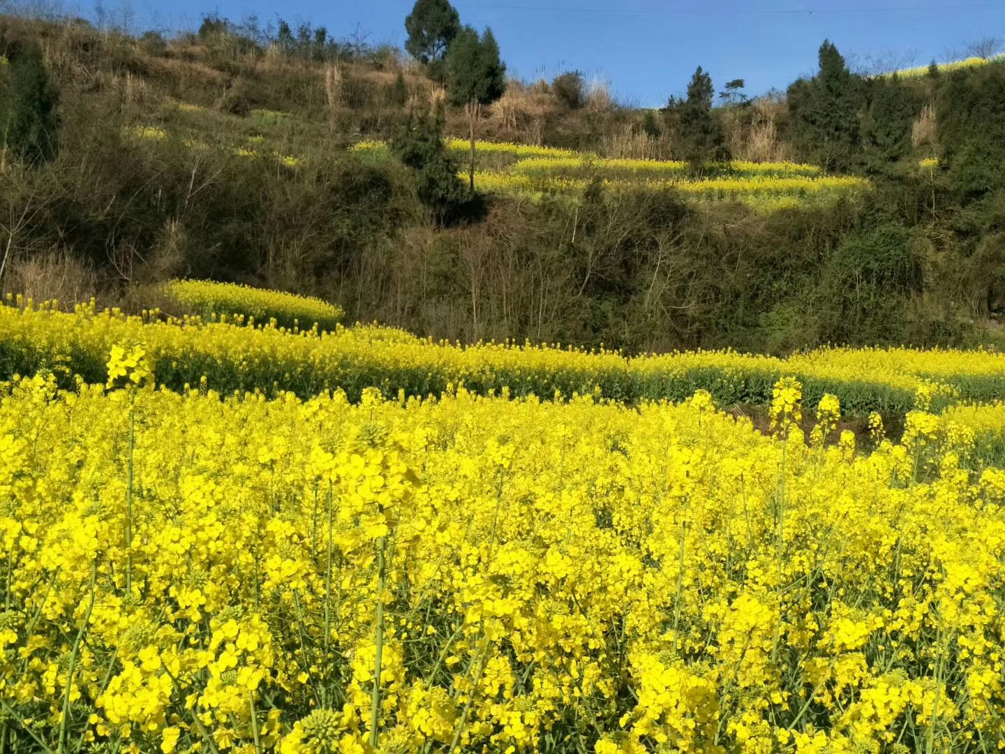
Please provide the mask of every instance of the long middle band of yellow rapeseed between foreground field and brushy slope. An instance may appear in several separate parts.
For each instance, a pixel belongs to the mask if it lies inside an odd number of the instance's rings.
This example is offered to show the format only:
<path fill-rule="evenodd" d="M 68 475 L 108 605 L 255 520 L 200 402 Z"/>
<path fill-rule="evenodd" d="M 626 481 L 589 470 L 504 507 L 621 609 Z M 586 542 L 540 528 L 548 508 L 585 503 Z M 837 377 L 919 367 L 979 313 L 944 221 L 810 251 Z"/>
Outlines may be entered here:
<path fill-rule="evenodd" d="M 187 282 L 201 291 L 211 312 L 242 311 L 256 320 L 286 318 L 306 324 L 321 312 L 303 299 L 217 284 Z M 224 293 L 235 298 L 218 299 Z M 247 300 L 244 296 L 262 296 Z M 202 306 L 200 299 L 193 307 Z M 221 302 L 225 301 L 226 306 Z M 262 312 L 248 302 L 272 309 Z M 820 349 L 788 359 L 732 351 L 695 351 L 628 358 L 617 351 L 585 351 L 559 344 L 434 343 L 400 330 L 338 327 L 331 332 L 248 328 L 244 320 L 205 323 L 198 319 L 160 322 L 158 318 L 97 313 L 80 306 L 74 314 L 35 308 L 17 299 L 0 307 L 0 378 L 33 374 L 40 368 L 74 372 L 105 382 L 106 362 L 115 345 L 145 344 L 156 365 L 156 381 L 173 389 L 206 385 L 233 390 L 295 392 L 301 397 L 343 388 L 357 400 L 366 387 L 385 395 L 438 395 L 450 383 L 482 395 L 504 389 L 512 395 L 568 397 L 574 392 L 634 401 L 682 400 L 707 390 L 721 404 L 768 406 L 784 376 L 803 385 L 803 399 L 815 406 L 833 394 L 843 410 L 865 417 L 876 411 L 898 416 L 918 407 L 940 411 L 960 401 L 988 401 L 1005 393 L 1005 355 L 983 351 L 912 349 Z M 283 303 L 282 307 L 278 303 Z"/>

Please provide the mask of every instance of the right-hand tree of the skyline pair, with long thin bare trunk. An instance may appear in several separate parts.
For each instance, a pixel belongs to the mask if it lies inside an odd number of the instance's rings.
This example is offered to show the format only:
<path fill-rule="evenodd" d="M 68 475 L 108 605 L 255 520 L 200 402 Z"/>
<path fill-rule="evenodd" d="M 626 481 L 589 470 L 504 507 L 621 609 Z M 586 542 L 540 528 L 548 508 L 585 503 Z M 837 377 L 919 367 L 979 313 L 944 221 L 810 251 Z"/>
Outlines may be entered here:
<path fill-rule="evenodd" d="M 474 127 L 481 108 L 506 92 L 506 63 L 491 29 L 478 32 L 465 26 L 454 38 L 446 56 L 447 97 L 450 104 L 467 110 L 471 135 L 470 189 L 474 190 Z"/>

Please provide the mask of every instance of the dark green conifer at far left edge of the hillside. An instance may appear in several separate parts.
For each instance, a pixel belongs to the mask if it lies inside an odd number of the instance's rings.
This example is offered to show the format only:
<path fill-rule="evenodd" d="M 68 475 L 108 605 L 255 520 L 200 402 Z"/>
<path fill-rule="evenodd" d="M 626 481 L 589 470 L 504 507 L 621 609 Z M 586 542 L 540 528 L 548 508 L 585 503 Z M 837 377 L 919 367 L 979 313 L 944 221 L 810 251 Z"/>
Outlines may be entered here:
<path fill-rule="evenodd" d="M 0 102 L 0 144 L 29 165 L 48 162 L 59 149 L 59 96 L 41 48 L 28 44 L 9 67 L 7 92 Z"/>

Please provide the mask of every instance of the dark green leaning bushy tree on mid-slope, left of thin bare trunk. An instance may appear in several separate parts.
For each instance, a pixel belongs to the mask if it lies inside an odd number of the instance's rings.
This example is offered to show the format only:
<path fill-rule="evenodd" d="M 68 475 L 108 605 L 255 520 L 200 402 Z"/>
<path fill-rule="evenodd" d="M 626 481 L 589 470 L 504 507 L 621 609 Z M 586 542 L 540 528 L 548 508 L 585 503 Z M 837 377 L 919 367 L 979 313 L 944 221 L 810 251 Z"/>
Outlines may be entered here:
<path fill-rule="evenodd" d="M 430 219 L 438 225 L 452 220 L 468 199 L 457 178 L 457 164 L 443 147 L 442 124 L 430 116 L 409 114 L 391 141 L 398 159 L 411 168 L 415 191 Z"/>

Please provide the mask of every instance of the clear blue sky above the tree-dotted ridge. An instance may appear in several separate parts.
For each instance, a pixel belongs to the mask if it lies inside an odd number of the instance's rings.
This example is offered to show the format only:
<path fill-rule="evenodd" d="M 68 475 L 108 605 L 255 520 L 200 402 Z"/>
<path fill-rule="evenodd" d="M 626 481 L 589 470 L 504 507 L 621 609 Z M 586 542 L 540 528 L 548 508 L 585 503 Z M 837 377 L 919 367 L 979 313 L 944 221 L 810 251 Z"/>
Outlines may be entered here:
<path fill-rule="evenodd" d="M 85 0 L 86 2 L 87 0 Z M 405 40 L 414 0 L 123 0 L 138 28 L 192 27 L 206 12 L 231 19 L 277 15 L 323 24 L 337 38 Z M 2 2 L 2 0 L 0 0 Z M 72 3 L 72 0 L 70 0 Z M 105 0 L 115 6 L 117 0 Z M 620 101 L 657 107 L 681 93 L 695 66 L 717 89 L 744 78 L 756 95 L 812 73 L 830 38 L 851 62 L 922 65 L 987 36 L 1005 37 L 1005 0 L 456 0 L 461 21 L 495 33 L 511 74 L 552 78 L 567 69 L 606 80 Z M 78 6 L 86 15 L 93 5 Z"/>

